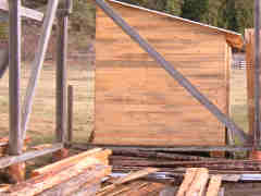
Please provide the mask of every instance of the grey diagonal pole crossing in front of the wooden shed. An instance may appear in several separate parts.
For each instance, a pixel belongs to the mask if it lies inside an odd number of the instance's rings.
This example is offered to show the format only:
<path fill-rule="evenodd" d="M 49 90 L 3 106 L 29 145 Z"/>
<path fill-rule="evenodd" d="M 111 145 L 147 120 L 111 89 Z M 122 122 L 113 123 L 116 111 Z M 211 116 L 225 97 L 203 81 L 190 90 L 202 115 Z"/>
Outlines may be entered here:
<path fill-rule="evenodd" d="M 243 143 L 248 142 L 248 135 L 238 127 L 235 122 L 225 115 L 213 102 L 202 95 L 186 77 L 179 73 L 174 65 L 167 62 L 153 47 L 151 47 L 134 28 L 132 28 L 110 5 L 103 0 L 95 0 L 103 12 L 110 16 L 140 48 L 156 60 L 181 86 L 183 86 L 194 98 L 204 106 L 227 128 L 234 132 Z"/>

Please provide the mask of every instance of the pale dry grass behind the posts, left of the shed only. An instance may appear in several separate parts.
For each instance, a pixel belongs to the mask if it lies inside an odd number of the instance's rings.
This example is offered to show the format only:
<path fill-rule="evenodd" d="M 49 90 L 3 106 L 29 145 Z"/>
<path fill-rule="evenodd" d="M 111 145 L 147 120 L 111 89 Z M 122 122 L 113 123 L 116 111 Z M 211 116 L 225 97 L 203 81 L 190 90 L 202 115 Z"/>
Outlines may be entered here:
<path fill-rule="evenodd" d="M 74 136 L 75 140 L 87 140 L 94 128 L 94 72 L 85 63 L 69 63 L 69 84 L 74 86 Z M 29 63 L 22 68 L 22 95 L 29 77 Z M 0 135 L 8 135 L 9 95 L 8 74 L 0 81 Z M 55 124 L 55 65 L 46 63 L 37 86 L 27 135 L 34 144 L 50 143 L 54 138 Z"/>

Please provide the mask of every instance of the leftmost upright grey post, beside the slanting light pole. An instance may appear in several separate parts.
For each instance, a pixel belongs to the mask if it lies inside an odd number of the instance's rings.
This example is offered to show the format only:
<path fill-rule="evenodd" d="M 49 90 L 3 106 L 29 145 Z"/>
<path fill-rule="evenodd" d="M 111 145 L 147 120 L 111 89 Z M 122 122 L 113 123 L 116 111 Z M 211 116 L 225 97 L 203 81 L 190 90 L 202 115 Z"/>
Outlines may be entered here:
<path fill-rule="evenodd" d="M 23 149 L 21 132 L 21 0 L 10 0 L 10 72 L 9 72 L 9 114 L 10 114 L 10 155 L 20 155 Z"/>

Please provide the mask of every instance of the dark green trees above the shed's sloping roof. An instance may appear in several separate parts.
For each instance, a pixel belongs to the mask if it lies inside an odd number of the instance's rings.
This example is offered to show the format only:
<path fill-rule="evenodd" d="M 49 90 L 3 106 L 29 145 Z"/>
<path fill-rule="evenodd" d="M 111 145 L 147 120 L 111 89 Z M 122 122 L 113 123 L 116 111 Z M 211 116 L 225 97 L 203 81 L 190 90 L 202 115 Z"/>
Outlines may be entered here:
<path fill-rule="evenodd" d="M 121 0 L 243 33 L 253 27 L 254 0 Z"/>

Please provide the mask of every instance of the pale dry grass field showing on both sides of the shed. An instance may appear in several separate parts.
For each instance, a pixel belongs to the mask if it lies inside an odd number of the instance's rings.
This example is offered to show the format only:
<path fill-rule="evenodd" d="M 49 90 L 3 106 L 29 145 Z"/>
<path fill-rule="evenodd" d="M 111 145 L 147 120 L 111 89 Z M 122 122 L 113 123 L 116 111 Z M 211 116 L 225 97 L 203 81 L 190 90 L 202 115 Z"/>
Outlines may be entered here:
<path fill-rule="evenodd" d="M 94 72 L 89 65 L 70 62 L 69 84 L 74 85 L 74 138 L 75 140 L 87 140 L 94 128 Z M 34 102 L 33 114 L 28 125 L 28 135 L 34 144 L 50 143 L 54 138 L 54 84 L 55 66 L 46 63 L 41 72 L 39 86 Z M 29 64 L 22 69 L 22 93 L 27 85 L 29 76 Z M 245 70 L 233 70 L 231 77 L 231 113 L 233 119 L 244 130 L 247 125 L 247 99 L 246 99 L 246 75 Z M 8 135 L 8 74 L 0 81 L 0 135 Z"/>

